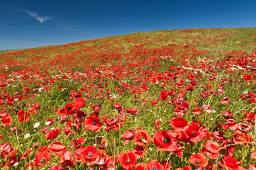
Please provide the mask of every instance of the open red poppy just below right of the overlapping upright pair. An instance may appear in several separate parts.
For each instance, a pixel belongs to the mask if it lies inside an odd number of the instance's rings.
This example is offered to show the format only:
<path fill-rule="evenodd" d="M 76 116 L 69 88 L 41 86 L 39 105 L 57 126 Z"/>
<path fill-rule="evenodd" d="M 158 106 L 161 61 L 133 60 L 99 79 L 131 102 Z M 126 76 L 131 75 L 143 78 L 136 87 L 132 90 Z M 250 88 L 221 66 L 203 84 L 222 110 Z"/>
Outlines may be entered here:
<path fill-rule="evenodd" d="M 87 119 L 84 119 L 84 128 L 92 130 L 94 132 L 100 130 L 102 127 L 101 121 L 96 115 L 92 115 Z"/>

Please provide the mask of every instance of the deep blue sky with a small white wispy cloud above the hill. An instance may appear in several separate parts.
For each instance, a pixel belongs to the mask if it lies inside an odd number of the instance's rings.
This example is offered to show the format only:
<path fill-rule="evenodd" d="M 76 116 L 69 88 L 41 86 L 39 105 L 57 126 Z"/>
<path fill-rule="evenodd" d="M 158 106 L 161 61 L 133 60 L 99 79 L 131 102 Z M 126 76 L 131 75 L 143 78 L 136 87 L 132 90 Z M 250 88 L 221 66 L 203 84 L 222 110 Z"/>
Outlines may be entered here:
<path fill-rule="evenodd" d="M 0 50 L 134 32 L 256 27 L 256 0 L 0 0 Z"/>

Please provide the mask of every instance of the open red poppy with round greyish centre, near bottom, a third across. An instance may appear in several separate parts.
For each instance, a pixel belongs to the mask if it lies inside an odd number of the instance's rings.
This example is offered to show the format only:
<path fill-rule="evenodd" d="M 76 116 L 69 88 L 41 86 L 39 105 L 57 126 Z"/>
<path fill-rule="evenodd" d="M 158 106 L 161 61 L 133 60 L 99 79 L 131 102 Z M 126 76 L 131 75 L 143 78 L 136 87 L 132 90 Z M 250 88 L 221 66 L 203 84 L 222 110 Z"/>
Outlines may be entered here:
<path fill-rule="evenodd" d="M 85 164 L 88 162 L 89 165 L 94 165 L 99 162 L 100 152 L 94 146 L 85 148 L 81 153 L 81 162 Z"/>

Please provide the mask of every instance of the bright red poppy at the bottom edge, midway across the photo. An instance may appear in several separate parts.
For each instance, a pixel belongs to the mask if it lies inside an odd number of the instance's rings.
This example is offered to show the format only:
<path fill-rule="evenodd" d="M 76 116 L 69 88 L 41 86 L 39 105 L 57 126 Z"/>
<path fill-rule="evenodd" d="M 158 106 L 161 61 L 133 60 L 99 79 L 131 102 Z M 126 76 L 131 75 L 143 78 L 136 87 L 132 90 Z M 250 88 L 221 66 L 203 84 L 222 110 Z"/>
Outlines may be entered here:
<path fill-rule="evenodd" d="M 123 166 L 124 169 L 128 169 L 136 164 L 135 154 L 131 151 L 122 152 L 118 156 L 118 162 Z"/>

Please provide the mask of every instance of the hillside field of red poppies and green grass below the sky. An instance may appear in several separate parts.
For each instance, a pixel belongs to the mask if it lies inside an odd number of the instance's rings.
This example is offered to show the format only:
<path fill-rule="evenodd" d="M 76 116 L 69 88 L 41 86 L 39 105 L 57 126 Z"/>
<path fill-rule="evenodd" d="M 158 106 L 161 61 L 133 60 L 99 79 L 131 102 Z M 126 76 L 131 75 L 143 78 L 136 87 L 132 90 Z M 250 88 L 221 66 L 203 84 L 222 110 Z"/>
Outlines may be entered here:
<path fill-rule="evenodd" d="M 256 28 L 0 52 L 1 169 L 256 169 Z"/>

